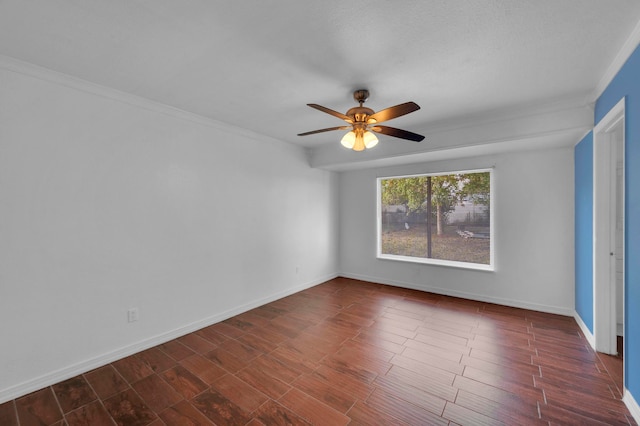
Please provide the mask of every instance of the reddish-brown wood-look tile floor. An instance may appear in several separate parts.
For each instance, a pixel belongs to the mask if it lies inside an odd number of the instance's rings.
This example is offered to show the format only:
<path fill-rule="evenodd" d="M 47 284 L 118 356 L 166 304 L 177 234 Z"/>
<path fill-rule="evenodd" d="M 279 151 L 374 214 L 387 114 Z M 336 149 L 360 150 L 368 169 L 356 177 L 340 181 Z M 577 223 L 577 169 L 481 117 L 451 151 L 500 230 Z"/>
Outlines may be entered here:
<path fill-rule="evenodd" d="M 572 318 L 337 278 L 2 404 L 0 425 L 636 424 L 620 388 Z"/>

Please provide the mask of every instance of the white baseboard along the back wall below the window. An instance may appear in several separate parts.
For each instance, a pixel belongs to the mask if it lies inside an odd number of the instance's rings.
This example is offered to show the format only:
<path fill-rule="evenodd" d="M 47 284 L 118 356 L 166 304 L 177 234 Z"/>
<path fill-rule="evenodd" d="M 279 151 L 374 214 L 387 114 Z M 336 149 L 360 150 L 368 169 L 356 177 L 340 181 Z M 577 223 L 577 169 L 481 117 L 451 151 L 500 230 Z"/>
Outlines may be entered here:
<path fill-rule="evenodd" d="M 523 300 L 502 299 L 499 297 L 485 296 L 481 294 L 466 293 L 446 288 L 431 287 L 426 285 L 418 285 L 409 282 L 387 280 L 379 277 L 370 277 L 360 274 L 341 273 L 340 276 L 345 278 L 353 278 L 356 280 L 369 281 L 378 284 L 386 284 L 394 287 L 408 288 L 411 290 L 421 290 L 429 293 L 441 294 L 443 296 L 459 297 L 461 299 L 475 300 L 478 302 L 495 303 L 497 305 L 510 306 L 513 308 L 529 309 L 532 311 L 546 312 L 550 314 L 573 316 L 573 309 L 563 308 L 561 306 L 541 305 L 537 303 L 526 302 Z"/>

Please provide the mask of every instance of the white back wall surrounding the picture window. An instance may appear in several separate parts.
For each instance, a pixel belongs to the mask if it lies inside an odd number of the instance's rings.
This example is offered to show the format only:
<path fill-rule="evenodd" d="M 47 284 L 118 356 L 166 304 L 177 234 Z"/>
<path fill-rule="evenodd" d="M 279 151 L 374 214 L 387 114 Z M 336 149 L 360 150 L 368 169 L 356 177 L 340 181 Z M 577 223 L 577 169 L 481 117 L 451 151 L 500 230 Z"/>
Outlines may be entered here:
<path fill-rule="evenodd" d="M 494 272 L 376 259 L 377 177 L 493 166 Z M 571 148 L 342 172 L 340 188 L 341 275 L 573 315 Z"/>

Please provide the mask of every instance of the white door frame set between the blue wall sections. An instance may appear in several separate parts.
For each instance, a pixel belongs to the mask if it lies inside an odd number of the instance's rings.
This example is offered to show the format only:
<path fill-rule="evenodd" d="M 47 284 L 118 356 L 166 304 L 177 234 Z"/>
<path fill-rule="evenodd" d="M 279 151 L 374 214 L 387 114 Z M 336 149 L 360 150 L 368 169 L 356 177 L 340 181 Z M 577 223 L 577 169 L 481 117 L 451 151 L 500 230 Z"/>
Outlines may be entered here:
<path fill-rule="evenodd" d="M 617 173 L 616 144 L 613 142 L 615 142 L 615 131 L 622 126 L 622 214 L 624 215 L 624 123 L 625 98 L 622 98 L 593 130 L 593 334 L 595 349 L 611 355 L 617 355 L 618 353 L 616 271 L 615 267 L 611 267 L 612 262 L 615 265 L 616 250 L 615 245 L 612 246 L 616 238 L 615 188 Z M 614 197 L 613 202 L 612 196 Z M 624 262 L 624 237 L 622 246 Z M 624 300 L 624 290 L 622 297 Z"/>

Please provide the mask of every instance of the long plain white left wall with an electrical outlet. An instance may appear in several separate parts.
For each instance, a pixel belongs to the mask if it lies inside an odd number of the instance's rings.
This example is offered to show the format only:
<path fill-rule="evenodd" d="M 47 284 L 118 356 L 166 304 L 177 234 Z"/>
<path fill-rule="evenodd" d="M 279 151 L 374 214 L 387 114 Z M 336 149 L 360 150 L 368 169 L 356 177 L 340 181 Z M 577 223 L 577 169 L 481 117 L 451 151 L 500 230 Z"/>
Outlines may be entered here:
<path fill-rule="evenodd" d="M 0 403 L 335 276 L 302 149 L 1 65 Z"/>

